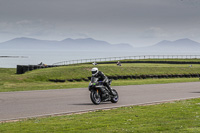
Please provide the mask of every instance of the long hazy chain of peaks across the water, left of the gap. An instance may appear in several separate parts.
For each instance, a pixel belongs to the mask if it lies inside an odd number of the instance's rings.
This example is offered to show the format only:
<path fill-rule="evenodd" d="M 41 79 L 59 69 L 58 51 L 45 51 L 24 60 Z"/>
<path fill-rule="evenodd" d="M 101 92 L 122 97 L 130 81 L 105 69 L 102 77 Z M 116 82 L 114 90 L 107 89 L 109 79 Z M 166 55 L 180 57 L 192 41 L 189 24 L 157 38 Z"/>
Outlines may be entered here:
<path fill-rule="evenodd" d="M 44 49 L 44 50 L 131 50 L 129 44 L 110 44 L 92 38 L 71 39 L 62 41 L 38 40 L 33 38 L 15 38 L 0 43 L 0 49 Z"/>

